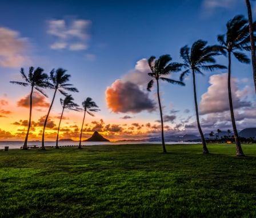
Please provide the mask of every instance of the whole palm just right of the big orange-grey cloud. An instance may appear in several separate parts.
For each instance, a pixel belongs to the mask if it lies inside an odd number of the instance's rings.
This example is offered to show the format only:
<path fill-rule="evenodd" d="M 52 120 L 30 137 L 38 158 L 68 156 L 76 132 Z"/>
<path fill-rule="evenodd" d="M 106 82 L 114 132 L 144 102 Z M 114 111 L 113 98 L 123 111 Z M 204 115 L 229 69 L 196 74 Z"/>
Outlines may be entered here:
<path fill-rule="evenodd" d="M 169 75 L 170 72 L 177 72 L 181 70 L 182 64 L 175 63 L 175 62 L 169 63 L 171 60 L 172 58 L 170 55 L 162 55 L 159 57 L 158 60 L 155 58 L 155 56 L 151 56 L 148 59 L 149 67 L 151 69 L 151 72 L 149 72 L 149 76 L 153 77 L 153 79 L 151 79 L 150 82 L 147 84 L 147 90 L 150 91 L 154 84 L 154 79 L 157 80 L 157 97 L 158 97 L 159 111 L 160 111 L 160 117 L 161 117 L 163 153 L 166 153 L 166 148 L 165 148 L 165 139 L 163 138 L 163 115 L 162 115 L 162 107 L 161 107 L 161 101 L 160 101 L 160 95 L 159 95 L 159 79 L 166 81 L 168 83 L 185 86 L 185 84 L 181 81 L 176 81 L 176 80 L 165 77 Z"/>

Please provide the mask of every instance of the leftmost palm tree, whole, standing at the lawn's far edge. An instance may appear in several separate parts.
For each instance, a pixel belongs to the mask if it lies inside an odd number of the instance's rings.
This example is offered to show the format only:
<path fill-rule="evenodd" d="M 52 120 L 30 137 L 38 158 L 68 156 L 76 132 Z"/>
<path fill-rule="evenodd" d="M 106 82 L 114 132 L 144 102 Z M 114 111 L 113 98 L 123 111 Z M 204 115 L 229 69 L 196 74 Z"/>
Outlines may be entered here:
<path fill-rule="evenodd" d="M 27 134 L 26 138 L 23 144 L 22 149 L 27 150 L 27 139 L 29 138 L 29 131 L 31 127 L 31 115 L 32 115 L 32 96 L 33 96 L 33 91 L 34 88 L 35 90 L 41 92 L 44 96 L 48 97 L 45 92 L 41 88 L 47 87 L 47 78 L 48 75 L 43 73 L 43 69 L 40 67 L 37 67 L 34 70 L 34 67 L 29 68 L 29 74 L 26 75 L 24 72 L 24 69 L 21 68 L 21 76 L 23 79 L 25 79 L 26 82 L 14 82 L 10 81 L 10 83 L 18 84 L 21 86 L 31 86 L 31 91 L 30 91 L 30 109 L 29 109 L 29 126 L 27 127 Z"/>

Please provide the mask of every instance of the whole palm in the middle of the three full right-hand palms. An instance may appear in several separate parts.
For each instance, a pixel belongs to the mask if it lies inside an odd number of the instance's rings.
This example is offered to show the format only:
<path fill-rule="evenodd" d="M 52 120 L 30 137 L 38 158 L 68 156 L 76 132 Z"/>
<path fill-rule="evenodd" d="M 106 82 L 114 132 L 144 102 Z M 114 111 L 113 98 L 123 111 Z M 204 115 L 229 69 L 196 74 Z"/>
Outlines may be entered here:
<path fill-rule="evenodd" d="M 193 90 L 194 90 L 194 102 L 195 102 L 195 114 L 197 115 L 197 127 L 201 135 L 203 154 L 209 154 L 206 146 L 205 137 L 199 122 L 198 104 L 197 104 L 197 91 L 195 87 L 195 74 L 202 74 L 201 70 L 213 71 L 216 69 L 226 68 L 225 66 L 215 64 L 214 56 L 219 55 L 218 51 L 214 51 L 215 46 L 206 46 L 207 42 L 199 39 L 194 42 L 191 49 L 188 46 L 181 48 L 181 57 L 183 59 L 183 66 L 186 68 L 181 74 L 181 80 L 184 76 L 192 72 L 193 75 Z"/>

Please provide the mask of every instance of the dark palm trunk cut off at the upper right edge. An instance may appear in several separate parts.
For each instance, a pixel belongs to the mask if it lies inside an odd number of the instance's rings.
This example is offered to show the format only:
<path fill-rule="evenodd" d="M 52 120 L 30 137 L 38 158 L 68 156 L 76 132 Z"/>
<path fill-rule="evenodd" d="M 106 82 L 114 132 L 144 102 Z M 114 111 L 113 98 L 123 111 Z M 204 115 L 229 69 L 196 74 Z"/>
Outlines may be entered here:
<path fill-rule="evenodd" d="M 251 14 L 250 0 L 245 0 L 248 11 L 249 31 L 250 31 L 250 42 L 251 42 L 251 64 L 253 65 L 253 80 L 256 93 L 256 55 L 255 55 L 255 42 L 254 42 L 254 27 L 253 27 L 253 15 Z"/>

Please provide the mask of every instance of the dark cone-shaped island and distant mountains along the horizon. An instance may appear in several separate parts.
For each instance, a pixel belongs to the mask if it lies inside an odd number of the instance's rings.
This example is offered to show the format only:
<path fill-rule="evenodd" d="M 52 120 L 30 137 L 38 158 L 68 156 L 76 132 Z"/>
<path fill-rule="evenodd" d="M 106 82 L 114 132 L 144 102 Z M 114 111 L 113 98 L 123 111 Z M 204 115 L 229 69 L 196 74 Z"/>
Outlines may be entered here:
<path fill-rule="evenodd" d="M 218 134 L 215 133 L 213 136 L 213 139 L 216 138 Z M 227 131 L 223 131 L 219 133 L 219 138 L 223 136 L 227 136 Z M 232 136 L 233 132 L 229 134 L 229 136 Z M 238 133 L 240 137 L 244 138 L 255 138 L 256 139 L 256 128 L 245 128 L 242 131 Z M 205 139 L 210 139 L 209 134 L 205 134 Z M 161 142 L 161 137 L 151 137 L 146 139 L 130 139 L 130 140 L 119 140 L 118 142 L 128 142 L 128 141 L 143 141 L 143 142 Z M 59 141 L 65 141 L 65 142 L 72 142 L 74 140 L 72 139 L 60 139 Z M 86 140 L 83 140 L 83 142 L 110 142 L 109 139 L 104 138 L 101 134 L 99 134 L 97 131 L 94 132 L 94 134 Z M 177 135 L 165 135 L 165 142 L 201 142 L 201 136 L 193 135 L 193 134 L 186 134 L 183 136 L 177 136 Z"/>

